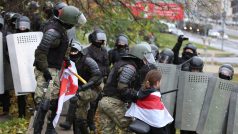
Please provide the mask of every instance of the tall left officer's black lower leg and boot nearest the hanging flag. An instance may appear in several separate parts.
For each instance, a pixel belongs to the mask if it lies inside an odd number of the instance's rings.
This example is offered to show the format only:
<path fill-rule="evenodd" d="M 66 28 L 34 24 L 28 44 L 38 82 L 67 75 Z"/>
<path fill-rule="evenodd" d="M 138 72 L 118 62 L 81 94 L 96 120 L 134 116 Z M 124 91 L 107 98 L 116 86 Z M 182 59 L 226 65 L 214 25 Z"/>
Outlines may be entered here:
<path fill-rule="evenodd" d="M 51 113 L 48 117 L 48 123 L 47 123 L 47 128 L 46 128 L 45 134 L 57 134 L 57 132 L 53 126 L 53 120 L 56 116 L 57 104 L 58 104 L 58 100 L 51 100 L 51 102 L 50 102 Z"/>

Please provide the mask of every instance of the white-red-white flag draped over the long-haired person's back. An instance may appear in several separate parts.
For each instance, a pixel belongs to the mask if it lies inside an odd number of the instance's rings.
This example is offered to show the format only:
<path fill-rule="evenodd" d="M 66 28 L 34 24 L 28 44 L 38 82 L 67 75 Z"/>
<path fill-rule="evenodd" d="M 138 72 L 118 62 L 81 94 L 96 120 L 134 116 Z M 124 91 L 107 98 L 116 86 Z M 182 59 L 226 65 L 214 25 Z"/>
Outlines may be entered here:
<path fill-rule="evenodd" d="M 157 128 L 164 127 L 173 121 L 173 117 L 161 101 L 161 94 L 158 91 L 132 103 L 125 116 L 135 117 Z"/>

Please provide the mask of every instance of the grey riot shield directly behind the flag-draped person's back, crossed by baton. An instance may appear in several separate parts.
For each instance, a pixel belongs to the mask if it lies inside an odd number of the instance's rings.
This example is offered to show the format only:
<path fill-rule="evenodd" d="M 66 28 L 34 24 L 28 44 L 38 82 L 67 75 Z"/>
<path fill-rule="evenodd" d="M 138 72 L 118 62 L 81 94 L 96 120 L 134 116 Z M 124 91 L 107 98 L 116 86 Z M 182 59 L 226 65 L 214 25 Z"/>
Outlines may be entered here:
<path fill-rule="evenodd" d="M 177 66 L 172 64 L 162 64 L 157 65 L 158 69 L 162 74 L 162 79 L 160 82 L 161 93 L 172 91 L 177 89 L 178 83 L 178 72 Z M 165 107 L 168 109 L 171 115 L 174 114 L 176 92 L 170 92 L 162 95 L 162 100 Z"/>

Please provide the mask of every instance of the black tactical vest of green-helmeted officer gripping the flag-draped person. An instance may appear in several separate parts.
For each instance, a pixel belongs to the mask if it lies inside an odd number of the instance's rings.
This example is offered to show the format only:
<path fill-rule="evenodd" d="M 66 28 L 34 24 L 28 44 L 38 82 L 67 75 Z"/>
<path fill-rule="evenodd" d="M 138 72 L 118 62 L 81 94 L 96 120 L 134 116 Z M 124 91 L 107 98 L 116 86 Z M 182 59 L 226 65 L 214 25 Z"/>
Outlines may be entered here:
<path fill-rule="evenodd" d="M 130 64 L 130 65 L 134 66 L 135 68 L 137 68 L 136 64 L 133 61 L 121 60 L 121 61 L 117 62 L 113 66 L 113 68 L 108 76 L 107 84 L 105 85 L 105 87 L 103 89 L 103 92 L 106 96 L 116 96 L 116 97 L 121 98 L 120 93 L 117 89 L 118 77 L 120 75 L 119 69 L 122 66 L 127 65 L 127 64 Z M 134 88 L 135 78 L 129 83 L 129 88 Z"/>

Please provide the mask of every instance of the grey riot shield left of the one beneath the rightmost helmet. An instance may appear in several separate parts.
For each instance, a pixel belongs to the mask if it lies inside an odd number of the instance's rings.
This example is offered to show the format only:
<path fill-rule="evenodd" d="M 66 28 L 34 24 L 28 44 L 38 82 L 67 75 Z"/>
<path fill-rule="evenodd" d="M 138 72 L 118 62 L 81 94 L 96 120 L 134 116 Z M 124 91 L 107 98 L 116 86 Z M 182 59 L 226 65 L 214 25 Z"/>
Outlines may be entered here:
<path fill-rule="evenodd" d="M 175 127 L 196 131 L 210 74 L 181 71 L 178 82 Z"/>

